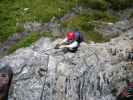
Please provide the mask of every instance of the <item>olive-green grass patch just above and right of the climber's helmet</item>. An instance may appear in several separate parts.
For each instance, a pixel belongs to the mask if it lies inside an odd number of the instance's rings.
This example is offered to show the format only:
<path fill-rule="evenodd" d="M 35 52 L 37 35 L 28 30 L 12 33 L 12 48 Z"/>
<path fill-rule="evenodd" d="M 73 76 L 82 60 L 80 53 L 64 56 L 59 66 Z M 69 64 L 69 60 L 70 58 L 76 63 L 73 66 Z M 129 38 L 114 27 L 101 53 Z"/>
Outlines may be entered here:
<path fill-rule="evenodd" d="M 84 33 L 85 37 L 88 40 L 93 40 L 95 42 L 104 42 L 107 41 L 108 38 L 104 38 L 102 35 L 95 31 L 95 27 L 97 26 L 95 22 L 115 22 L 117 20 L 117 17 L 109 15 L 107 12 L 90 11 L 89 13 L 83 12 L 82 14 L 66 20 L 64 23 L 62 23 L 62 25 L 70 29 L 78 28 Z"/>

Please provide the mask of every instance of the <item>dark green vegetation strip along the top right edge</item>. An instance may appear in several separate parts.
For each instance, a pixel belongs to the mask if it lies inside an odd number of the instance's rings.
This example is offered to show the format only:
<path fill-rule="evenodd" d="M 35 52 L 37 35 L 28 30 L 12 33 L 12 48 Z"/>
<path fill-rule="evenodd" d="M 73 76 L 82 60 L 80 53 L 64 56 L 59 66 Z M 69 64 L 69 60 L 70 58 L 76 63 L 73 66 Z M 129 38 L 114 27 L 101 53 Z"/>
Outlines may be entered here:
<path fill-rule="evenodd" d="M 79 5 L 86 8 L 107 10 L 112 8 L 113 10 L 123 10 L 129 7 L 133 7 L 133 0 L 79 0 Z"/>

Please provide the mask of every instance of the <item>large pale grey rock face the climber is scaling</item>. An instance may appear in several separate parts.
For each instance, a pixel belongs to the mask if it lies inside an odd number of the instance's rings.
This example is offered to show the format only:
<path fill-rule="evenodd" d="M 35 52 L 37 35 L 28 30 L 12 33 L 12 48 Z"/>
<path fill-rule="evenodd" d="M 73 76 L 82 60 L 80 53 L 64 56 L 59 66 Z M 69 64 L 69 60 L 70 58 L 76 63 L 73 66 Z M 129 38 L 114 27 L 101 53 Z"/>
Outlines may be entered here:
<path fill-rule="evenodd" d="M 0 60 L 14 71 L 9 100 L 115 100 L 133 81 L 123 46 L 130 48 L 131 41 L 82 43 L 76 53 L 65 54 L 54 49 L 59 41 L 41 38 Z"/>

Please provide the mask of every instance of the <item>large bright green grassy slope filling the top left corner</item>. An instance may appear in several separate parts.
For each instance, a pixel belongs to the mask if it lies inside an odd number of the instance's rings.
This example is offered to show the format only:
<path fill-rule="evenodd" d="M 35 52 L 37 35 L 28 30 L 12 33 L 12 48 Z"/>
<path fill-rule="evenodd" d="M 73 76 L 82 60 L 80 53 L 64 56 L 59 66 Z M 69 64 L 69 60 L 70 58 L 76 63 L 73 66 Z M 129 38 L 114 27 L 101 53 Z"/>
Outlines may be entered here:
<path fill-rule="evenodd" d="M 75 2 L 76 0 L 1 0 L 0 43 L 15 32 L 23 31 L 23 28 L 16 27 L 16 23 L 47 22 L 53 16 L 63 16 Z"/>

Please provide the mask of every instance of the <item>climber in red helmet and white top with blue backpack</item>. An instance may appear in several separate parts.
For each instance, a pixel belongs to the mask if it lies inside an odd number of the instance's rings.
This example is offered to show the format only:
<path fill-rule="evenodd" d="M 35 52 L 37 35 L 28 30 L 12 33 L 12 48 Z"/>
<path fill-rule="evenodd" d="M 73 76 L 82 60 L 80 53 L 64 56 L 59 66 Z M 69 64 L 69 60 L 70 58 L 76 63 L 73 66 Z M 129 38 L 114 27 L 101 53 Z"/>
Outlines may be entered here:
<path fill-rule="evenodd" d="M 80 32 L 68 32 L 64 40 L 57 44 L 57 48 L 63 49 L 64 52 L 76 52 L 83 37 Z"/>

